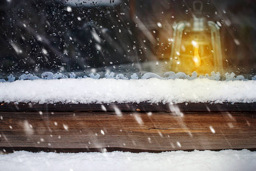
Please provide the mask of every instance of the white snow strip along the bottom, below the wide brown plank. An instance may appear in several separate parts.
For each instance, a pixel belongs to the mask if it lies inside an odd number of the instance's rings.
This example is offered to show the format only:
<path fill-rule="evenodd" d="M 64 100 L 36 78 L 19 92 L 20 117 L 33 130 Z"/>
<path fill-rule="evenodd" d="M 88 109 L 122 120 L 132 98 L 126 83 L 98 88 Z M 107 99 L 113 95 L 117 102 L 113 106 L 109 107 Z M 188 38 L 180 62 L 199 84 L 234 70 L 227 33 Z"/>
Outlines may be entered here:
<path fill-rule="evenodd" d="M 0 155 L 4 171 L 254 171 L 256 152 L 248 150 L 162 153 L 31 153 Z"/>

